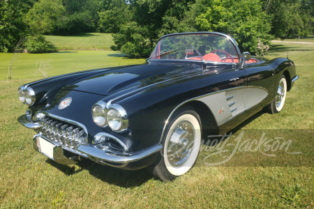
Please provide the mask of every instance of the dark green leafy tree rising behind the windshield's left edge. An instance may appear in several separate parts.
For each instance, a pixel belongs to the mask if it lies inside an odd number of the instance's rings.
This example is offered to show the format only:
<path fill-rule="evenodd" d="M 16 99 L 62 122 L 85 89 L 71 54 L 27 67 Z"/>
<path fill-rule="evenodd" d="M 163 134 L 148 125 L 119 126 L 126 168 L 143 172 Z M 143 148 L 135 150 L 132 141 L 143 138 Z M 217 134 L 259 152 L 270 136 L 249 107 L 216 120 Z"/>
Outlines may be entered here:
<path fill-rule="evenodd" d="M 113 34 L 114 50 L 128 56 L 148 57 L 164 33 L 177 32 L 179 18 L 188 8 L 189 0 L 133 0 L 128 4 L 130 18 Z M 182 9 L 184 8 L 184 9 Z M 165 18 L 164 18 L 165 17 Z M 172 26 L 175 28 L 170 29 Z"/>

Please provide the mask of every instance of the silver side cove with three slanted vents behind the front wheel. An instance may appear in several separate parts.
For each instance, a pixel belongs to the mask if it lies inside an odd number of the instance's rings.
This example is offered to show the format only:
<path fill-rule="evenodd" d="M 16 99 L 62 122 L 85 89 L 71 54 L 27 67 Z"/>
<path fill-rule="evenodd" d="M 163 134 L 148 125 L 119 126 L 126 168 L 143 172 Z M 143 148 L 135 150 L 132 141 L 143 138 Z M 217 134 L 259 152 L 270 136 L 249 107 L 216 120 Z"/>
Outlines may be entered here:
<path fill-rule="evenodd" d="M 212 93 L 196 100 L 204 102 L 211 109 L 218 125 L 229 121 L 234 116 L 250 109 L 266 98 L 268 92 L 264 88 L 247 86 L 230 88 L 219 93 Z"/>

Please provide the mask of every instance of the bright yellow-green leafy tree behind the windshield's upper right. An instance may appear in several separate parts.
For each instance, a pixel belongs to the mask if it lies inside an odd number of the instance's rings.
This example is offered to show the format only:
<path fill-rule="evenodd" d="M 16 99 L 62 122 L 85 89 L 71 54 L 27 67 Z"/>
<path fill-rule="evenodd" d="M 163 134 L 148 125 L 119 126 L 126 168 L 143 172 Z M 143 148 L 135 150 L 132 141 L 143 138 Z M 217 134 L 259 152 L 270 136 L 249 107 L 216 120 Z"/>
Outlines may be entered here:
<path fill-rule="evenodd" d="M 255 52 L 258 38 L 268 44 L 271 24 L 259 0 L 210 1 L 207 11 L 196 17 L 201 31 L 218 31 L 232 36 L 241 51 Z"/>

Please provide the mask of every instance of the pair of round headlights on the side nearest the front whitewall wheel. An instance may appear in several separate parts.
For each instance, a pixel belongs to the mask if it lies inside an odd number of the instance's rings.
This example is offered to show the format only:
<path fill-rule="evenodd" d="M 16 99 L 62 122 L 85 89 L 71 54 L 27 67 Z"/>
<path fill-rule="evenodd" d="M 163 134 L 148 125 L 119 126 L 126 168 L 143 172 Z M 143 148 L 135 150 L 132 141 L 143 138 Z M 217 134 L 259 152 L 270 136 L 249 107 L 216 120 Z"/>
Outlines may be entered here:
<path fill-rule="evenodd" d="M 128 128 L 126 110 L 119 104 L 112 104 L 112 106 L 107 108 L 105 102 L 97 102 L 91 114 L 96 125 L 100 127 L 108 125 L 114 132 L 123 132 Z"/>

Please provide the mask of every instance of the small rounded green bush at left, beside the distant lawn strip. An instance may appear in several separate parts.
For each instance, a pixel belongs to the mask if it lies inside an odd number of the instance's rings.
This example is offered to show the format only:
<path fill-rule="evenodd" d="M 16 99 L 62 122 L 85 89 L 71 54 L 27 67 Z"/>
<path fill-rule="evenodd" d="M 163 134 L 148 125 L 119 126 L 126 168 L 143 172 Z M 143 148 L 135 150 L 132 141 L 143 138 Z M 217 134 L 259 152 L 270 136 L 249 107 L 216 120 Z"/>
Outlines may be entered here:
<path fill-rule="evenodd" d="M 35 54 L 57 51 L 57 49 L 52 46 L 51 42 L 45 40 L 45 37 L 41 34 L 28 36 L 24 47 L 27 49 L 27 52 Z"/>

